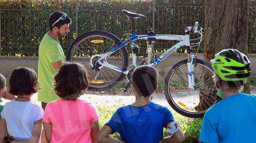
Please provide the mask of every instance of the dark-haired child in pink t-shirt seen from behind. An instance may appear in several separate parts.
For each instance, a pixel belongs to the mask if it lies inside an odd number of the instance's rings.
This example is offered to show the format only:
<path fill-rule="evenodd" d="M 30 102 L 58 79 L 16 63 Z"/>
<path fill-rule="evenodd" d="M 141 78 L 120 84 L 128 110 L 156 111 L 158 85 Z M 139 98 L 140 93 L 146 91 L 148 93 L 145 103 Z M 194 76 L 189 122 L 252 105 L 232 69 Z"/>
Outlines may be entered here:
<path fill-rule="evenodd" d="M 64 63 L 54 77 L 60 97 L 45 108 L 43 123 L 48 143 L 96 143 L 99 115 L 90 102 L 79 99 L 88 89 L 86 69 L 78 63 Z"/>

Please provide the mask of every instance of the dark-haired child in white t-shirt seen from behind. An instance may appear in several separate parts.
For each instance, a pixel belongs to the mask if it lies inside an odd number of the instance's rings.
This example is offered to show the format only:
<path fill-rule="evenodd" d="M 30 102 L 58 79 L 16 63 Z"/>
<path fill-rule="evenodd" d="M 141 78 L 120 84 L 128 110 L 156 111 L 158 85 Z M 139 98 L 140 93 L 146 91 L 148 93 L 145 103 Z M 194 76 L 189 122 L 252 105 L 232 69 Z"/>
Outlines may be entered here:
<path fill-rule="evenodd" d="M 9 79 L 9 93 L 16 95 L 15 100 L 9 101 L 3 107 L 0 120 L 0 143 L 7 131 L 12 143 L 40 143 L 43 124 L 43 109 L 33 104 L 31 96 L 39 90 L 37 76 L 29 68 L 16 68 Z"/>

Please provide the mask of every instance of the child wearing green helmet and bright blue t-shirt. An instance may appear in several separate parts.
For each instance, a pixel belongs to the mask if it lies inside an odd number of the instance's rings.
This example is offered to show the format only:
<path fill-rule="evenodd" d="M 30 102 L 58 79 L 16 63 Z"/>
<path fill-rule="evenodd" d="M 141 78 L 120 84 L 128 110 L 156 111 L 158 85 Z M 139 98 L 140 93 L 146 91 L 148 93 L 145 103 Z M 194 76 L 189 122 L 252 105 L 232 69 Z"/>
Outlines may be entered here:
<path fill-rule="evenodd" d="M 238 50 L 227 49 L 217 53 L 211 64 L 215 85 L 223 99 L 205 112 L 199 141 L 255 142 L 256 96 L 239 92 L 243 81 L 250 76 L 250 61 Z"/>

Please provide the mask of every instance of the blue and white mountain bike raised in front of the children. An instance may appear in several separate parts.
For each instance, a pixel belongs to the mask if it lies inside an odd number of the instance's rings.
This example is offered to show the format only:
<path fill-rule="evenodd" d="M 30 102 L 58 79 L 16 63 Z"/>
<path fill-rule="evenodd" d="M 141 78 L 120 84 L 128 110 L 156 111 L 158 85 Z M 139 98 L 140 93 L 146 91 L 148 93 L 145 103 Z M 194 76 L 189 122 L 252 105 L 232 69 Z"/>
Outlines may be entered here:
<path fill-rule="evenodd" d="M 185 46 L 188 59 L 176 63 L 168 72 L 164 86 L 165 97 L 178 113 L 193 118 L 203 117 L 205 111 L 217 102 L 213 80 L 214 72 L 211 65 L 205 60 L 197 59 L 193 54 L 193 47 L 199 47 L 203 40 L 203 29 L 196 22 L 195 26 L 185 28 L 185 35 L 156 35 L 152 29 L 147 35 L 136 35 L 135 19 L 147 17 L 126 10 L 122 12 L 128 17 L 128 23 L 131 24 L 130 38 L 121 41 L 109 32 L 93 30 L 83 33 L 69 47 L 67 60 L 85 65 L 88 75 L 95 80 L 89 84 L 89 90 L 111 89 L 116 84 L 123 82 L 123 78 L 126 76 L 128 84 L 123 90 L 127 91 L 131 85 L 132 71 L 137 66 L 136 54 L 139 53 L 139 47 L 136 45 L 137 39 L 147 40 L 148 57 L 152 55 L 152 44 L 156 39 L 177 40 L 180 42 L 151 62 L 142 57 L 142 62 L 139 65 L 155 66 L 175 50 Z M 197 30 L 198 28 L 199 30 Z M 190 40 L 190 32 L 200 34 L 200 38 Z M 200 42 L 190 43 L 190 41 L 199 39 Z M 128 53 L 125 45 L 130 42 L 132 42 L 133 62 L 128 67 Z M 195 96 L 195 93 L 198 95 Z M 190 101 L 196 97 L 196 100 Z M 188 102 L 186 102 L 187 99 Z"/>

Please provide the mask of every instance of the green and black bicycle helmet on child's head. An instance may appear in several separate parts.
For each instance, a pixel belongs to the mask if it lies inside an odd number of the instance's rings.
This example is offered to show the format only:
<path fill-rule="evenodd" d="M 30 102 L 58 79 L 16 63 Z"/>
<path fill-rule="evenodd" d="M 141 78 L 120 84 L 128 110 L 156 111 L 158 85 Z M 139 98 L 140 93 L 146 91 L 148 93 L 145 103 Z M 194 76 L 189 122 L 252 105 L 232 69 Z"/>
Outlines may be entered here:
<path fill-rule="evenodd" d="M 225 49 L 210 61 L 211 67 L 224 81 L 244 81 L 250 77 L 250 61 L 236 49 Z"/>

